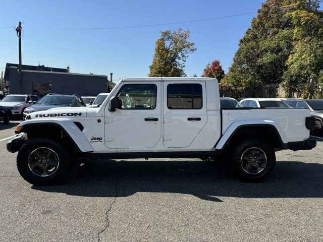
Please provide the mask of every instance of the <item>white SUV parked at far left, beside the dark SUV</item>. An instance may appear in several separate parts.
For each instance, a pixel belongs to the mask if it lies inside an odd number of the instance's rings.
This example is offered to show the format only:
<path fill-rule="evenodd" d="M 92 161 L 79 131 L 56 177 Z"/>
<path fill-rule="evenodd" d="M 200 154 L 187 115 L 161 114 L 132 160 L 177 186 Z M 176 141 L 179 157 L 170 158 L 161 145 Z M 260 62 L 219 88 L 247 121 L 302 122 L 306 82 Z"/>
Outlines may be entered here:
<path fill-rule="evenodd" d="M 39 98 L 29 94 L 10 94 L 1 100 L 0 105 L 11 109 L 13 115 L 22 115 L 26 107 L 32 106 Z"/>

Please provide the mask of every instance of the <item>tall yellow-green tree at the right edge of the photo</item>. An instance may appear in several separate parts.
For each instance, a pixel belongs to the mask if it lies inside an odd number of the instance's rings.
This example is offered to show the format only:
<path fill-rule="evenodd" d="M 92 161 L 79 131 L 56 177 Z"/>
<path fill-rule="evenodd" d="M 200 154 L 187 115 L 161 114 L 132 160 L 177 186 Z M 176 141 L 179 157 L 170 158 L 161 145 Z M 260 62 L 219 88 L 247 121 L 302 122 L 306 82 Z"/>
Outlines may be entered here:
<path fill-rule="evenodd" d="M 288 0 L 285 7 L 289 8 L 286 16 L 293 23 L 294 43 L 286 63 L 284 85 L 289 96 L 297 89 L 303 92 L 303 97 L 312 98 L 314 90 L 322 84 L 322 11 L 318 10 L 318 0 Z"/>

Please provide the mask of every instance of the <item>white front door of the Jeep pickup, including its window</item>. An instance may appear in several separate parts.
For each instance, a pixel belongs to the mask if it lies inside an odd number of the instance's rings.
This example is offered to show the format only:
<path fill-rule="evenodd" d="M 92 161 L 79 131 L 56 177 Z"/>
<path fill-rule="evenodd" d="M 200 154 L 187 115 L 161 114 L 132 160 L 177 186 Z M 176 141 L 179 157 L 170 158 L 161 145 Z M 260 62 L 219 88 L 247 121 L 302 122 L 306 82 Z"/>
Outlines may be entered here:
<path fill-rule="evenodd" d="M 125 82 L 117 95 L 122 106 L 104 110 L 105 146 L 112 149 L 152 148 L 161 138 L 160 81 Z"/>

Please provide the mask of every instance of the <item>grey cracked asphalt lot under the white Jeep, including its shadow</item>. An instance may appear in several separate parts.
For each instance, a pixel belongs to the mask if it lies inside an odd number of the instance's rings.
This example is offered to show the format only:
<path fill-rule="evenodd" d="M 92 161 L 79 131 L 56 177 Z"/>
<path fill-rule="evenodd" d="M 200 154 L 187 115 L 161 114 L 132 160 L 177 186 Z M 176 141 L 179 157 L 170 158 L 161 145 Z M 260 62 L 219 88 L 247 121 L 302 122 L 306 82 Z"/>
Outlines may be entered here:
<path fill-rule="evenodd" d="M 0 140 L 17 124 L 0 124 Z M 322 140 L 323 139 L 318 139 Z M 24 181 L 0 141 L 1 241 L 322 241 L 323 142 L 277 152 L 262 183 L 198 159 L 93 161 L 65 183 Z"/>

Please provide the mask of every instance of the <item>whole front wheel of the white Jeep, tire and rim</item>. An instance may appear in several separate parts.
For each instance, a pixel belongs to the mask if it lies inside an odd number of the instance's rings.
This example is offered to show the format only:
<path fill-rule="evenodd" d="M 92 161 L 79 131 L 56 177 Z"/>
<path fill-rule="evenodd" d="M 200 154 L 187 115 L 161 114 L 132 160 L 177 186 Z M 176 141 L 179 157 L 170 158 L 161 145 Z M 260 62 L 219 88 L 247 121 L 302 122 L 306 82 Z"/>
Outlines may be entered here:
<path fill-rule="evenodd" d="M 50 138 L 35 138 L 19 150 L 17 167 L 28 183 L 46 186 L 61 181 L 69 172 L 71 163 L 62 144 Z"/>

